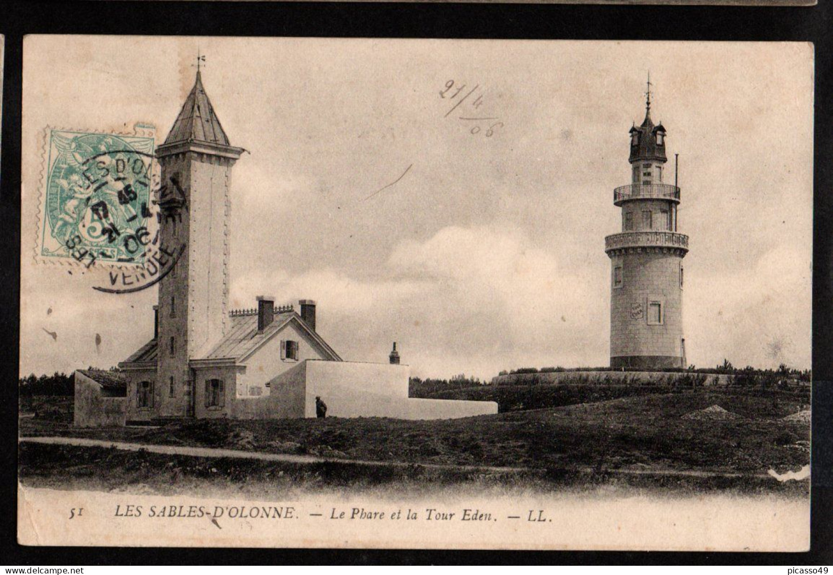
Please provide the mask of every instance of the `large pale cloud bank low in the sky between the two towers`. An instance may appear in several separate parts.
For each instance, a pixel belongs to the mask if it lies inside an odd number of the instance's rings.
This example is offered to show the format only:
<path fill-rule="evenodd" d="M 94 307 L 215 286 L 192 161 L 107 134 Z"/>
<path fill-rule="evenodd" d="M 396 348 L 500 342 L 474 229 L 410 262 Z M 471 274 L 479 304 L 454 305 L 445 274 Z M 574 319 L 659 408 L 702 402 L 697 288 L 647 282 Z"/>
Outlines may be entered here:
<path fill-rule="evenodd" d="M 601 282 L 566 273 L 518 229 L 443 228 L 400 243 L 377 272 L 377 281 L 332 269 L 248 273 L 232 305 L 250 307 L 264 292 L 314 298 L 319 331 L 343 357 L 384 361 L 397 340 L 423 376 L 606 361 L 606 268 Z"/>

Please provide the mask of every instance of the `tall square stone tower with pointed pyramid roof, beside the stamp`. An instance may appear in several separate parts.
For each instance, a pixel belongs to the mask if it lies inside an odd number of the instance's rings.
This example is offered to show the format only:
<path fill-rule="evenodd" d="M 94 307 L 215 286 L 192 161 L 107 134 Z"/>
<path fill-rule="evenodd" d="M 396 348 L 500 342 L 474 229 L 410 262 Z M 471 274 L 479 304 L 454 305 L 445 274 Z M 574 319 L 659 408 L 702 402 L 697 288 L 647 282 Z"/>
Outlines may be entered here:
<path fill-rule="evenodd" d="M 194 390 L 188 360 L 226 330 L 228 218 L 234 148 L 197 79 L 165 143 L 159 208 L 163 245 L 182 249 L 159 283 L 157 317 L 157 417 L 193 417 Z"/>

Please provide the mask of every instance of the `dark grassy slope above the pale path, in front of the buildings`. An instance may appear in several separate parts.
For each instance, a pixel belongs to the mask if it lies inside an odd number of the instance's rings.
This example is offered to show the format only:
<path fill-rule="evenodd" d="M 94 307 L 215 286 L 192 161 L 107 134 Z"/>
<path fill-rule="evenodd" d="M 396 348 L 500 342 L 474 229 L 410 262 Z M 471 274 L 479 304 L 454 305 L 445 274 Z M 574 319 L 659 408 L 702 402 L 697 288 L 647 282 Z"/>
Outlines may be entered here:
<path fill-rule="evenodd" d="M 701 389 L 432 422 L 201 420 L 152 429 L 85 430 L 61 421 L 24 418 L 21 434 L 374 461 L 511 466 L 568 476 L 588 467 L 601 475 L 616 469 L 760 474 L 770 468 L 779 473 L 797 470 L 809 463 L 809 454 L 796 446 L 809 439 L 809 425 L 781 421 L 798 411 L 801 402 L 778 394 Z M 741 418 L 681 418 L 714 404 Z"/>

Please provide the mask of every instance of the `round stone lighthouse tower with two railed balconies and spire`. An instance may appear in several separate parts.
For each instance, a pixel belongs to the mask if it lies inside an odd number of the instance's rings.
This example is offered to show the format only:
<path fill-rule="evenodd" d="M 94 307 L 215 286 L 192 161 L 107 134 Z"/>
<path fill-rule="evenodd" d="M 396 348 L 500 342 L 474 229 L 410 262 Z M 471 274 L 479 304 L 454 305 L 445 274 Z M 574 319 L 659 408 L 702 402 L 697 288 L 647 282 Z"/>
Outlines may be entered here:
<path fill-rule="evenodd" d="M 682 259 L 677 233 L 680 188 L 665 183 L 666 129 L 645 120 L 631 128 L 631 184 L 616 188 L 621 233 L 605 238 L 611 258 L 611 368 L 685 368 Z M 675 175 L 676 178 L 676 175 Z"/>

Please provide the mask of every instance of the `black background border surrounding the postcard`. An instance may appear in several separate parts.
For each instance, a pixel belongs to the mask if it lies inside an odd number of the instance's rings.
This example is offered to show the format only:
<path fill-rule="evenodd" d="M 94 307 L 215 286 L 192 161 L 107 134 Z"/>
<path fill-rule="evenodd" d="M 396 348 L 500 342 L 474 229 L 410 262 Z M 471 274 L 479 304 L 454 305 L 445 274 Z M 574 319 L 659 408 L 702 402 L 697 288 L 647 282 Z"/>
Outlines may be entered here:
<path fill-rule="evenodd" d="M 761 0 L 766 2 L 766 0 Z M 626 6 L 376 2 L 4 2 L 6 36 L 0 178 L 0 562 L 120 564 L 743 564 L 833 563 L 833 0 L 814 7 Z M 813 246 L 813 478 L 807 553 L 491 552 L 138 547 L 21 547 L 17 532 L 17 365 L 20 274 L 22 38 L 26 34 L 295 37 L 460 37 L 813 42 L 816 133 Z M 56 59 L 63 57 L 56 53 Z M 117 58 L 117 54 L 113 54 Z M 264 62 L 267 65 L 267 62 Z M 589 71 L 588 73 L 591 73 Z M 704 127 L 705 129 L 705 127 Z M 788 130 L 773 126 L 773 132 Z M 738 167 L 737 169 L 742 169 Z M 742 214 L 741 217 L 746 214 Z M 25 294 L 24 294 L 25 297 Z"/>

